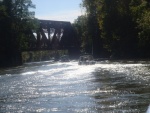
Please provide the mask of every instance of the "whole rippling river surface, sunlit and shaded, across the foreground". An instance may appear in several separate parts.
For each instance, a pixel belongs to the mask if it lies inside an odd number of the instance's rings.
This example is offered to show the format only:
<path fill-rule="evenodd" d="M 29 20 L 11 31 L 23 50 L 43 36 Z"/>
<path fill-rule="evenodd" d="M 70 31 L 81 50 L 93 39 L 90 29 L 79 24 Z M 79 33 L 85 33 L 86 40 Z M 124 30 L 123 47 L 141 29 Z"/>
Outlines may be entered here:
<path fill-rule="evenodd" d="M 150 62 L 27 63 L 0 71 L 0 113 L 145 113 Z"/>

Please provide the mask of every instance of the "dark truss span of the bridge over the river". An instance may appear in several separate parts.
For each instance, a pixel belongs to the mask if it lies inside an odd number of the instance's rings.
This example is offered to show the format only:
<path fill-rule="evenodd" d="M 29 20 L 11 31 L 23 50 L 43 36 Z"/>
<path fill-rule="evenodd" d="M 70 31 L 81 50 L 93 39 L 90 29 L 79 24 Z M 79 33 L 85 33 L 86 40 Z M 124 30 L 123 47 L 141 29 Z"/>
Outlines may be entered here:
<path fill-rule="evenodd" d="M 58 50 L 77 47 L 77 39 L 70 22 L 39 20 L 40 28 L 30 30 L 29 50 Z"/>

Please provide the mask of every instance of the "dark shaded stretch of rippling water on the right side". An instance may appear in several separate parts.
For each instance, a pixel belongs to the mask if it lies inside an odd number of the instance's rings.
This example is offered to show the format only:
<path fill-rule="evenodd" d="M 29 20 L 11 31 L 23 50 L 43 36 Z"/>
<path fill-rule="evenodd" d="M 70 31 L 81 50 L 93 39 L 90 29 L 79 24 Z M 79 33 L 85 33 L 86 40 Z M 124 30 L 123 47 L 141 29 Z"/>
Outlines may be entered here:
<path fill-rule="evenodd" d="M 113 62 L 113 67 L 102 67 L 94 72 L 93 82 L 97 83 L 96 88 L 100 90 L 94 95 L 99 112 L 146 111 L 150 103 L 150 66 L 145 62 L 137 63 Z"/>

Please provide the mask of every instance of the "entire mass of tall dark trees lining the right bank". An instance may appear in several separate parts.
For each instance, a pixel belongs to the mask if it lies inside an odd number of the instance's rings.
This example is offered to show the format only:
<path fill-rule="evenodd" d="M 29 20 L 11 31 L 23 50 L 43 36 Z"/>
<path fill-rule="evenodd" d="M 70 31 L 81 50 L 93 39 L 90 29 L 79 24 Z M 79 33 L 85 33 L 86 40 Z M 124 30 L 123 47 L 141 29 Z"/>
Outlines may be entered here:
<path fill-rule="evenodd" d="M 73 23 L 83 52 L 95 57 L 150 58 L 150 0 L 82 0 Z M 92 49 L 93 48 L 93 49 Z"/>

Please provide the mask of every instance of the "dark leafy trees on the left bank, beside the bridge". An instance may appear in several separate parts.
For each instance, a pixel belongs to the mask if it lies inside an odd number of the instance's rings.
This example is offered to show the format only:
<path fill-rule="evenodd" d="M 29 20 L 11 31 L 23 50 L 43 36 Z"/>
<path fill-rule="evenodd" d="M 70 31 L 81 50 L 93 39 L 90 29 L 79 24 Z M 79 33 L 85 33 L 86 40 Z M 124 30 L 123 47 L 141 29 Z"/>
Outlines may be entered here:
<path fill-rule="evenodd" d="M 21 63 L 21 49 L 27 47 L 27 31 L 35 28 L 34 13 L 29 8 L 35 8 L 31 0 L 3 0 L 0 4 L 0 56 L 1 65 L 16 65 Z"/>

